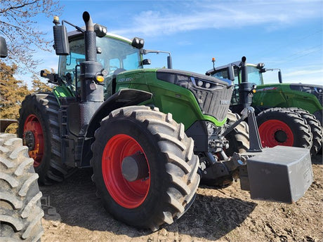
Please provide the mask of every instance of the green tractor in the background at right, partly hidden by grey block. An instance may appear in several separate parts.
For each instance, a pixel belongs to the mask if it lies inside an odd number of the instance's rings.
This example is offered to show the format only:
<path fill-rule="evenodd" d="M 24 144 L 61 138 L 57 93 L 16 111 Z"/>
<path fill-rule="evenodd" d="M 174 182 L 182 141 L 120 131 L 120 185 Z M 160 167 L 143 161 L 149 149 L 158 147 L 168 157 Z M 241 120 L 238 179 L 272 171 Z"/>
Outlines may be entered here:
<path fill-rule="evenodd" d="M 254 90 L 252 107 L 257 115 L 259 133 L 264 147 L 286 145 L 310 149 L 312 156 L 322 148 L 322 95 L 323 87 L 305 83 L 264 84 L 263 73 L 275 69 L 265 69 L 263 63 L 246 64 L 246 74 L 242 75 L 242 62 L 232 62 L 222 67 L 214 67 L 207 75 L 233 81 L 231 109 L 241 112 L 239 93 Z M 254 87 L 253 87 L 254 86 Z"/>

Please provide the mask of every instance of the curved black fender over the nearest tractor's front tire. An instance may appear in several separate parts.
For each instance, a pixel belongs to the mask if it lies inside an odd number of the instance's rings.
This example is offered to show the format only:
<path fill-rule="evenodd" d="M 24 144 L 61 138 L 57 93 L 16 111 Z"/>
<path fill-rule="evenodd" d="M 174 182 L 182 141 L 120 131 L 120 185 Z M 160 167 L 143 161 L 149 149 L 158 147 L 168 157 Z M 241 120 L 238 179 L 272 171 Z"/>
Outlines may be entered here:
<path fill-rule="evenodd" d="M 152 93 L 126 88 L 119 90 L 117 93 L 114 93 L 114 95 L 105 100 L 105 102 L 103 102 L 103 104 L 95 111 L 88 123 L 82 145 L 81 168 L 90 166 L 90 160 L 92 158 L 91 144 L 94 141 L 95 130 L 100 127 L 101 120 L 108 116 L 114 109 L 139 105 L 141 102 L 145 102 L 151 98 Z"/>

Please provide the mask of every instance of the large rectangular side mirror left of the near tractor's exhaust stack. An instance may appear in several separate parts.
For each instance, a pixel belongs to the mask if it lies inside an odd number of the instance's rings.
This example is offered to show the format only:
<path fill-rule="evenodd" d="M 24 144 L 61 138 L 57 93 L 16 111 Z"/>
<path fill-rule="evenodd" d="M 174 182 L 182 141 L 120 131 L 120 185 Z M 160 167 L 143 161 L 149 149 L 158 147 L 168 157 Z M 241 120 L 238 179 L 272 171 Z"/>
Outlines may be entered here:
<path fill-rule="evenodd" d="M 66 27 L 64 25 L 55 25 L 53 26 L 53 32 L 56 55 L 70 55 Z"/>

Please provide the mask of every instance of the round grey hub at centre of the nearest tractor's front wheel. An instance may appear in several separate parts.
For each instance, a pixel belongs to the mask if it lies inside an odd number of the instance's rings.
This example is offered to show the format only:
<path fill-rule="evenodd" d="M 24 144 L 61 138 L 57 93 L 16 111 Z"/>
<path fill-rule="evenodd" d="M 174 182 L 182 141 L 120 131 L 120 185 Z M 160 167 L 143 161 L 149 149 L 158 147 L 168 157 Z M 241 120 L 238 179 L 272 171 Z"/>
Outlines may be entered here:
<path fill-rule="evenodd" d="M 144 154 L 133 154 L 122 160 L 121 172 L 128 182 L 144 179 L 149 176 L 147 161 Z"/>

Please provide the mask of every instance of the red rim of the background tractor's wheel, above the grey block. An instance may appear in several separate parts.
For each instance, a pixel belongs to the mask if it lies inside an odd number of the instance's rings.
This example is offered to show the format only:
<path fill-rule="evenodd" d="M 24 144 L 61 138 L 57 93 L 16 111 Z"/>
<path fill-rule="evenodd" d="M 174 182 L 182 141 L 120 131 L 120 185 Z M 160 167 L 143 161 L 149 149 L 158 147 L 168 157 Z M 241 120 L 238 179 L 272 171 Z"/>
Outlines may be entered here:
<path fill-rule="evenodd" d="M 259 135 L 261 136 L 263 147 L 293 146 L 294 144 L 294 135 L 291 128 L 277 119 L 262 123 L 259 127 Z"/>

